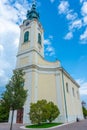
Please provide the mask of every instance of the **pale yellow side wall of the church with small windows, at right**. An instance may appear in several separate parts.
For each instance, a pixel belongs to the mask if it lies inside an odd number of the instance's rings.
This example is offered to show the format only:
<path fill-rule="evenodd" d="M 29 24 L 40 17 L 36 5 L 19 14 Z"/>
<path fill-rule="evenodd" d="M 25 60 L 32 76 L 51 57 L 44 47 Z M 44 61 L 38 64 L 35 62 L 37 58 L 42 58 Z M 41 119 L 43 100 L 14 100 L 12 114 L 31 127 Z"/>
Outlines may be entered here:
<path fill-rule="evenodd" d="M 66 90 L 66 82 L 68 83 L 69 92 Z M 79 88 L 67 77 L 64 75 L 64 87 L 65 87 L 65 95 L 66 95 L 66 104 L 68 115 L 81 115 L 81 101 L 80 97 L 77 96 L 77 91 L 79 92 Z M 73 90 L 74 88 L 74 95 Z"/>

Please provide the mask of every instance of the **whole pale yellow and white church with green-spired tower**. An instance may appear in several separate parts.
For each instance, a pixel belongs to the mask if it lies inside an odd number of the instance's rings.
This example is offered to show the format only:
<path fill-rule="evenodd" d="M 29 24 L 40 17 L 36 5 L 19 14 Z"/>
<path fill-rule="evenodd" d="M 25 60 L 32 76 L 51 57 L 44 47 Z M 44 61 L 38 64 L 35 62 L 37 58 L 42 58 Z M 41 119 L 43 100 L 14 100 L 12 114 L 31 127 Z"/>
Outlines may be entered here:
<path fill-rule="evenodd" d="M 13 122 L 30 123 L 30 103 L 41 99 L 58 106 L 60 115 L 56 122 L 72 122 L 77 117 L 83 119 L 80 86 L 61 67 L 60 61 L 48 62 L 44 59 L 44 30 L 35 4 L 27 12 L 27 19 L 20 30 L 16 69 L 25 71 L 24 88 L 28 90 L 28 96 L 23 109 L 15 111 Z"/>

